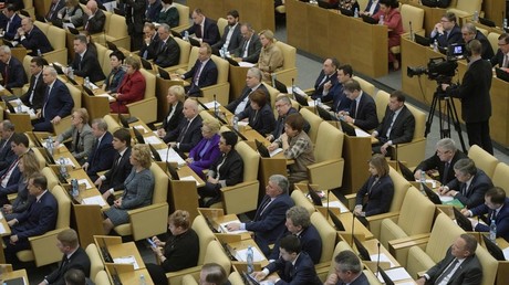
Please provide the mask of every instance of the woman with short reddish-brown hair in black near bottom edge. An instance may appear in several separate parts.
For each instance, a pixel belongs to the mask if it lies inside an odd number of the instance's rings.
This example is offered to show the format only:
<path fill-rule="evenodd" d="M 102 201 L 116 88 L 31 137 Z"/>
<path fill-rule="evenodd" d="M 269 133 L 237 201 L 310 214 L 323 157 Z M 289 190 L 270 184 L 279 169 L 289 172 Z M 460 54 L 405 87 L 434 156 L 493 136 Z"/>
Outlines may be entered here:
<path fill-rule="evenodd" d="M 152 251 L 157 255 L 160 265 L 147 263 L 147 271 L 154 284 L 168 284 L 166 273 L 196 266 L 199 255 L 199 240 L 190 228 L 189 212 L 177 210 L 168 218 L 170 236 L 166 242 L 157 236 L 152 238 Z"/>

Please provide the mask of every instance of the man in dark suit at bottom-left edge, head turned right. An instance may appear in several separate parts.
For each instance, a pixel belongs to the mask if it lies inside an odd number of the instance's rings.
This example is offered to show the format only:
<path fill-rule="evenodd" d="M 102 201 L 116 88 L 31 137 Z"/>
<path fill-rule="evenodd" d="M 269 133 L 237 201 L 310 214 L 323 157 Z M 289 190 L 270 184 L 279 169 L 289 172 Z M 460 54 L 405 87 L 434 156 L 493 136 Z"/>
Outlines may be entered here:
<path fill-rule="evenodd" d="M 76 231 L 67 229 L 60 232 L 56 235 L 56 247 L 63 253 L 60 266 L 45 276 L 41 285 L 66 284 L 64 276 L 71 270 L 81 271 L 85 276 L 90 276 L 91 262 L 85 250 L 79 244 Z"/>

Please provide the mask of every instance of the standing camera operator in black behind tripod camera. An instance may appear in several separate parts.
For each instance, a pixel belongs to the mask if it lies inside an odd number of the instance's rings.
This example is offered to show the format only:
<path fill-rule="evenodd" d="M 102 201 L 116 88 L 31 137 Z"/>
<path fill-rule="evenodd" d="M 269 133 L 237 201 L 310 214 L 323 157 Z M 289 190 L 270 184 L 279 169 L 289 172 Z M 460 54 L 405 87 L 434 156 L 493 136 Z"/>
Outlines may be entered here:
<path fill-rule="evenodd" d="M 491 64 L 481 59 L 482 45 L 478 40 L 471 40 L 466 48 L 469 63 L 461 84 L 442 84 L 442 89 L 447 96 L 460 98 L 461 118 L 467 127 L 470 146 L 478 145 L 492 155 L 494 147 L 489 136 Z"/>

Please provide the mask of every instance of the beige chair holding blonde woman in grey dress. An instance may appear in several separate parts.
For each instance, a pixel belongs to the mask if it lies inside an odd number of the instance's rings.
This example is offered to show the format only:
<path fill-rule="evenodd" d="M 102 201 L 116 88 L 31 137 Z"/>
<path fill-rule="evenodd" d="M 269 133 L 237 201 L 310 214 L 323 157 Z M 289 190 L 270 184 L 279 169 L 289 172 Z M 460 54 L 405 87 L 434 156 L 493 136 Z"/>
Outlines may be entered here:
<path fill-rule="evenodd" d="M 129 222 L 115 226 L 115 232 L 120 235 L 133 235 L 135 241 L 165 233 L 167 230 L 168 176 L 155 162 L 152 163 L 150 171 L 155 180 L 152 204 L 127 211 Z"/>

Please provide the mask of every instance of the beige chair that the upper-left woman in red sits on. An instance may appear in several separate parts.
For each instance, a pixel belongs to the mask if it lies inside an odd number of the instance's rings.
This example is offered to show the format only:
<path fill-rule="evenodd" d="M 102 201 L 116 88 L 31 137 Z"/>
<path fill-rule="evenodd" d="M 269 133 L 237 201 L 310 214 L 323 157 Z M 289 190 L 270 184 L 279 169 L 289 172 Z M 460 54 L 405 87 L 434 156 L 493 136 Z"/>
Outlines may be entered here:
<path fill-rule="evenodd" d="M 156 76 L 141 68 L 143 76 L 145 77 L 146 87 L 145 95 L 142 101 L 127 104 L 127 109 L 129 110 L 131 116 L 135 116 L 143 120 L 144 123 L 154 123 L 157 120 L 157 112 L 147 112 L 157 109 L 157 98 L 156 98 Z"/>

